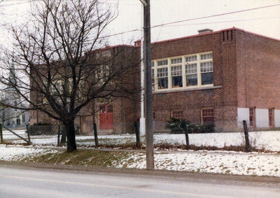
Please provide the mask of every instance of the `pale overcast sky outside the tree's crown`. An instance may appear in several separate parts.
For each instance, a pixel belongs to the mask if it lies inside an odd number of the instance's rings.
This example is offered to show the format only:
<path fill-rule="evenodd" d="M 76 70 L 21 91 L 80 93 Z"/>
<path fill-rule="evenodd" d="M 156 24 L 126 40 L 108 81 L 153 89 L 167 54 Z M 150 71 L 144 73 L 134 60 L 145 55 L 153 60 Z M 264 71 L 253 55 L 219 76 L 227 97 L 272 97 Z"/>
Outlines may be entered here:
<path fill-rule="evenodd" d="M 113 8 L 118 4 L 118 17 L 106 29 L 106 34 L 141 29 L 143 11 L 139 0 L 107 0 L 106 2 Z M 27 20 L 29 5 L 27 0 L 2 1 L 0 3 L 1 23 Z M 259 8 L 263 6 L 271 7 Z M 244 11 L 251 8 L 259 9 Z M 231 12 L 237 13 L 221 15 Z M 211 17 L 214 15 L 220 16 Z M 195 20 L 195 18 L 203 19 Z M 188 21 L 153 27 L 181 20 Z M 280 39 L 280 0 L 151 0 L 151 26 L 153 27 L 151 30 L 153 42 L 191 36 L 197 34 L 198 29 L 210 28 L 218 31 L 230 27 Z M 0 42 L 5 41 L 7 35 L 3 34 L 2 29 L 0 33 L 2 35 Z M 137 30 L 110 37 L 109 44 L 133 44 L 140 37 L 141 32 Z"/>

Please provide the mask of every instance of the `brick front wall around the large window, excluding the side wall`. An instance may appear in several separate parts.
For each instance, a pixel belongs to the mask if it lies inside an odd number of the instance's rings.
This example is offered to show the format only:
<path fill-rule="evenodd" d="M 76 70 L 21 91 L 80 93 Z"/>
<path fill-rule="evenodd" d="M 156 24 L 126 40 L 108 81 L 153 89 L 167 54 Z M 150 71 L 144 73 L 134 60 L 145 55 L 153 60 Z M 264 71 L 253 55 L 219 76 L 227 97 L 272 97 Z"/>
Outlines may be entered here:
<path fill-rule="evenodd" d="M 214 107 L 217 130 L 236 127 L 237 81 L 235 32 L 201 35 L 186 39 L 153 44 L 152 59 L 169 58 L 177 55 L 213 51 L 214 87 L 195 91 L 178 91 L 153 94 L 155 130 L 162 131 L 172 110 L 183 110 L 184 119 L 200 124 L 201 108 Z M 232 35 L 231 35 L 232 34 Z M 226 129 L 225 128 L 225 129 Z"/>

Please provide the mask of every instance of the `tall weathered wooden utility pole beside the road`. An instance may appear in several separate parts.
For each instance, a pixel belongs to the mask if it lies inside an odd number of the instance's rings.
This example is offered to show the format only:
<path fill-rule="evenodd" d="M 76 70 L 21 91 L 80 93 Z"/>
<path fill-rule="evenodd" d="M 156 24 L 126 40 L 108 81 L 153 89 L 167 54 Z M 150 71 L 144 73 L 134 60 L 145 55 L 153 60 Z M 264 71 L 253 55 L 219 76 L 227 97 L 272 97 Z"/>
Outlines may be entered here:
<path fill-rule="evenodd" d="M 140 0 L 144 5 L 144 65 L 145 65 L 145 125 L 146 169 L 155 168 L 153 157 L 153 101 L 151 78 L 151 15 L 150 0 Z"/>

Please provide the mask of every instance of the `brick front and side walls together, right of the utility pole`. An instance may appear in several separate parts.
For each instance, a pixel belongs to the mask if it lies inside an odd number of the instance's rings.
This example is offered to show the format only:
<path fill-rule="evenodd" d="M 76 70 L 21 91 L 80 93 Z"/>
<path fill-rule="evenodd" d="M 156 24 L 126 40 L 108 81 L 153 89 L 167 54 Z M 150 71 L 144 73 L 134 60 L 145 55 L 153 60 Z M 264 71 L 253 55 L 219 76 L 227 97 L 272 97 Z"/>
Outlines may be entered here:
<path fill-rule="evenodd" d="M 165 129 L 172 110 L 200 123 L 200 109 L 214 107 L 216 128 L 237 130 L 237 107 L 280 109 L 280 41 L 241 29 L 153 44 L 152 59 L 213 51 L 214 86 L 210 90 L 155 93 L 155 130 Z"/>

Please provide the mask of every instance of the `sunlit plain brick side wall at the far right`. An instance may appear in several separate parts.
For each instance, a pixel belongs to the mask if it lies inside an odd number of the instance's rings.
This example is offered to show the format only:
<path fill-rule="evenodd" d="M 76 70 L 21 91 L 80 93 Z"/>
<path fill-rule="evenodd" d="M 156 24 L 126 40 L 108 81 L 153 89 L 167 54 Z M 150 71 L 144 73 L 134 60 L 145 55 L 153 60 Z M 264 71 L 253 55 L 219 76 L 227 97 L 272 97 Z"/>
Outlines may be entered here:
<path fill-rule="evenodd" d="M 237 31 L 238 107 L 280 109 L 280 41 Z"/>

